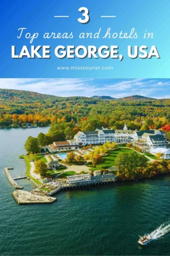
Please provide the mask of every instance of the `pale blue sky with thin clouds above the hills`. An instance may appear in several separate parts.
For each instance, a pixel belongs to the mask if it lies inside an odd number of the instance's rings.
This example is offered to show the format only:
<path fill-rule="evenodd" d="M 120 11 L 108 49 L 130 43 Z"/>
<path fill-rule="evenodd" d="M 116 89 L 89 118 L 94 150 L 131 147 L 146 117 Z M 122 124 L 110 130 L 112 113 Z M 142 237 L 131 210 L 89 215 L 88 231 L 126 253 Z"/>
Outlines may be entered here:
<path fill-rule="evenodd" d="M 123 98 L 142 95 L 156 99 L 170 98 L 170 79 L 1 78 L 0 88 L 61 97 L 107 95 Z"/>

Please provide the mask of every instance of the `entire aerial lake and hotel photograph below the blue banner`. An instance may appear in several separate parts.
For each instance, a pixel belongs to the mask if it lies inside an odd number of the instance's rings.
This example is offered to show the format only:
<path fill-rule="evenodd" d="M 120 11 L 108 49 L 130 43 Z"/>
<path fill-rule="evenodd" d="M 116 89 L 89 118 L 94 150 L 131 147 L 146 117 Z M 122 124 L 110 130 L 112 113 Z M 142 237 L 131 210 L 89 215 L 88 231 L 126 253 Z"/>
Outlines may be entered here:
<path fill-rule="evenodd" d="M 170 79 L 0 79 L 0 254 L 169 255 Z"/>

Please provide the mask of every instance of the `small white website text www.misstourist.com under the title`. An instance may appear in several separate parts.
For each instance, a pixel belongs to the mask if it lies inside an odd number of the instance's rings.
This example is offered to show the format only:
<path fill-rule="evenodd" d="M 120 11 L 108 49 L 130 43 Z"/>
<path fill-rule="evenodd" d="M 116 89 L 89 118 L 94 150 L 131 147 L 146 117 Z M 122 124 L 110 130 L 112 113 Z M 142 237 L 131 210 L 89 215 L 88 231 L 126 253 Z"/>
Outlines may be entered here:
<path fill-rule="evenodd" d="M 113 67 L 100 66 L 74 66 L 74 67 L 57 67 L 57 70 L 113 70 Z"/>

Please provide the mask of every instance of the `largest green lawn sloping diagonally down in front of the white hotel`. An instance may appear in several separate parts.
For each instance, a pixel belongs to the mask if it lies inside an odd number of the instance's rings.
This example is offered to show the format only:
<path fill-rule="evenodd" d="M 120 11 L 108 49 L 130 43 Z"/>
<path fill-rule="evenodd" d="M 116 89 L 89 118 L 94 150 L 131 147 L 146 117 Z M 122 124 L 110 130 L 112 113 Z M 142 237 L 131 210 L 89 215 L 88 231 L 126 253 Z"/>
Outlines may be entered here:
<path fill-rule="evenodd" d="M 132 149 L 128 148 L 120 148 L 119 150 L 115 151 L 109 151 L 110 155 L 109 156 L 103 156 L 103 163 L 99 164 L 97 167 L 90 168 L 90 171 L 96 171 L 96 170 L 101 170 L 101 169 L 108 169 L 109 167 L 112 167 L 115 165 L 115 159 L 118 154 L 121 152 L 132 152 Z"/>

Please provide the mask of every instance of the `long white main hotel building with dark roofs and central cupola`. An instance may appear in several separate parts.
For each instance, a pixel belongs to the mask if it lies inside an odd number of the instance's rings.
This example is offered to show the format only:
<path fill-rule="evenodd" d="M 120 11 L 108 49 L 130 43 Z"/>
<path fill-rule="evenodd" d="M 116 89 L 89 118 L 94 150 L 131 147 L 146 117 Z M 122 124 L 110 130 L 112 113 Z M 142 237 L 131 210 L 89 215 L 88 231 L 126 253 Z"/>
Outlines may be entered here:
<path fill-rule="evenodd" d="M 123 130 L 96 129 L 96 131 L 78 132 L 74 136 L 74 143 L 82 145 L 104 144 L 107 141 L 115 141 L 117 143 L 132 142 L 137 147 L 166 147 L 167 137 L 164 131 L 147 130 L 133 131 L 128 130 L 126 124 Z"/>

